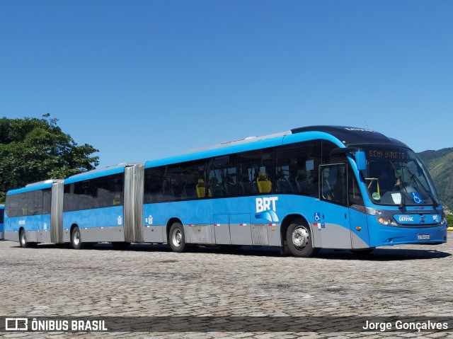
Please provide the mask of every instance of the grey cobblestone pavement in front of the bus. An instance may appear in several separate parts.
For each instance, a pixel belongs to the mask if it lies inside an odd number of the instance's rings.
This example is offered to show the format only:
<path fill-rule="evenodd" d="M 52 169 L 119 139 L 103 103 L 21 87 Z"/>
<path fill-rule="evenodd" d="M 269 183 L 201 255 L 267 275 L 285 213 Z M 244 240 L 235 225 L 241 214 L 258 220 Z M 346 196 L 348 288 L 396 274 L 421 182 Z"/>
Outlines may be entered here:
<path fill-rule="evenodd" d="M 453 231 L 440 246 L 377 248 L 366 257 L 321 251 L 281 256 L 273 248 L 195 248 L 136 244 L 114 250 L 0 241 L 1 316 L 171 316 L 175 331 L 4 332 L 4 338 L 453 338 L 445 332 L 185 331 L 175 316 L 446 316 L 453 318 Z M 350 317 L 350 318 L 348 318 Z M 169 320 L 168 320 L 169 319 Z M 183 318 L 182 318 L 183 319 Z M 362 318 L 365 326 L 366 318 Z M 180 325 L 180 324 L 179 324 Z M 321 324 L 322 325 L 322 324 Z M 321 326 L 322 327 L 322 326 Z M 252 327 L 250 327 L 252 329 Z M 182 330 L 184 327 L 182 326 Z"/>

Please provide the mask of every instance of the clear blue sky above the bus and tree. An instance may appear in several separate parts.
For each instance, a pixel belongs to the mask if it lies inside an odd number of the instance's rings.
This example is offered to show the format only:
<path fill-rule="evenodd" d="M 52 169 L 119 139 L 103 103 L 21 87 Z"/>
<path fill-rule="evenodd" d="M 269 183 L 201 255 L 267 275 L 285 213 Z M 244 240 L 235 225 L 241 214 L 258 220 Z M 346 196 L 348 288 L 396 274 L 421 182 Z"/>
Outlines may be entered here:
<path fill-rule="evenodd" d="M 101 166 L 307 125 L 453 146 L 453 1 L 0 0 L 0 116 Z"/>

